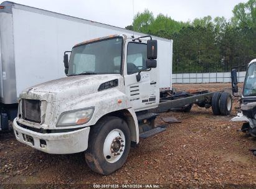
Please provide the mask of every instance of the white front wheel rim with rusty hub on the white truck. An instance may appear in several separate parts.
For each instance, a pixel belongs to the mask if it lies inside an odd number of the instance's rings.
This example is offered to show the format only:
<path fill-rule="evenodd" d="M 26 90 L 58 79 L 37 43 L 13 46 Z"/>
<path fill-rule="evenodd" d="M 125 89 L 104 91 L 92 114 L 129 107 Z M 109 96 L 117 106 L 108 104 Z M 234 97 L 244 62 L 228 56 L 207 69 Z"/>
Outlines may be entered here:
<path fill-rule="evenodd" d="M 113 129 L 108 133 L 103 145 L 105 160 L 109 163 L 117 162 L 125 150 L 125 134 L 120 129 Z"/>

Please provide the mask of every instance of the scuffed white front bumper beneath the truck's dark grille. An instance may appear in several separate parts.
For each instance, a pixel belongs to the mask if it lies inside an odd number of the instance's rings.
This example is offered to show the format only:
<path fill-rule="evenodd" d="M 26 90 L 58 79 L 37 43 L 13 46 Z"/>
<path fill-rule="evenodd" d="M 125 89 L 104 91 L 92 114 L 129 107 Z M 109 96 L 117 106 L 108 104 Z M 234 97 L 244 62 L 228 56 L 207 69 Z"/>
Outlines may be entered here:
<path fill-rule="evenodd" d="M 88 147 L 90 127 L 71 132 L 42 134 L 18 126 L 16 119 L 12 127 L 19 142 L 49 154 L 73 154 L 83 152 Z"/>

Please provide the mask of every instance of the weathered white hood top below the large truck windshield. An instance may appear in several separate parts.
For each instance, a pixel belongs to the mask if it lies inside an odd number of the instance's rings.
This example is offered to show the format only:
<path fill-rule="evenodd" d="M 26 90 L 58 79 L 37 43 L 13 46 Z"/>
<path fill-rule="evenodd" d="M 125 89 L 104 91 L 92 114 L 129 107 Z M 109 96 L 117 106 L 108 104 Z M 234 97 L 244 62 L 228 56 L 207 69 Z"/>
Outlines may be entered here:
<path fill-rule="evenodd" d="M 118 79 L 121 75 L 78 75 L 67 76 L 32 86 L 21 92 L 20 97 L 46 101 L 62 101 L 98 92 L 102 83 Z"/>

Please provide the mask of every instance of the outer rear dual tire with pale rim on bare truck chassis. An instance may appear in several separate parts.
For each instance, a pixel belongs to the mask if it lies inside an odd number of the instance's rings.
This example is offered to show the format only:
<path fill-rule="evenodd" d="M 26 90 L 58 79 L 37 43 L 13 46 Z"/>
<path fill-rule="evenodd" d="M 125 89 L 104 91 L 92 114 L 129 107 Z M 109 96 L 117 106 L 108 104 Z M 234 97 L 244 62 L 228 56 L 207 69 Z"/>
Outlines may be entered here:
<path fill-rule="evenodd" d="M 232 96 L 231 94 L 224 92 L 221 94 L 219 99 L 219 109 L 222 116 L 230 114 L 232 109 Z"/>

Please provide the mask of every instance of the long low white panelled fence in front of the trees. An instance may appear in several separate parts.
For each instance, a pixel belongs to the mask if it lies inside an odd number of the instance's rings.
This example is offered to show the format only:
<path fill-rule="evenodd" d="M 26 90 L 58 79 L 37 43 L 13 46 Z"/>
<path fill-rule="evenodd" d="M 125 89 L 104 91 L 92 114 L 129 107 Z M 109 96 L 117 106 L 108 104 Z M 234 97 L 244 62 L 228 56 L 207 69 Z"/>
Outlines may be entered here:
<path fill-rule="evenodd" d="M 172 83 L 230 83 L 230 72 L 173 73 Z M 245 71 L 237 72 L 237 80 L 244 82 Z"/>

